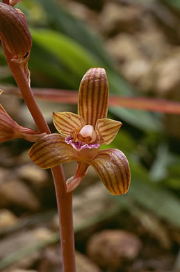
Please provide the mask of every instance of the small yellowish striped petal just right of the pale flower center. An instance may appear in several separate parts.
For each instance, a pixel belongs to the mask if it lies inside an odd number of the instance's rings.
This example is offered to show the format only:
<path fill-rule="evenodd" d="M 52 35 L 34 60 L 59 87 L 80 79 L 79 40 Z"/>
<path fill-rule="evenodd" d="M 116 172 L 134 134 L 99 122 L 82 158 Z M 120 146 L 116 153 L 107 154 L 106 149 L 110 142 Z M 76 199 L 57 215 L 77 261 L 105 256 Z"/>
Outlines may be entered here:
<path fill-rule="evenodd" d="M 100 144 L 110 144 L 117 135 L 122 123 L 108 118 L 98 119 L 95 130 L 100 137 Z"/>

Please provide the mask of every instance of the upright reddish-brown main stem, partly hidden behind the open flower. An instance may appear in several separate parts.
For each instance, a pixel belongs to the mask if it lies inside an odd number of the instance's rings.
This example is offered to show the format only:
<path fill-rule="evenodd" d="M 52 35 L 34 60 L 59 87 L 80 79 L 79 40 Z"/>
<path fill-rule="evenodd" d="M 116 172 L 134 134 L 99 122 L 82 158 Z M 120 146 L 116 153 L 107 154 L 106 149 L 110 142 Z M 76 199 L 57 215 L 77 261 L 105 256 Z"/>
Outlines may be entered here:
<path fill-rule="evenodd" d="M 28 81 L 22 66 L 19 63 L 10 61 L 11 55 L 6 50 L 6 45 L 1 40 L 3 45 L 3 50 L 6 56 L 6 61 L 8 66 L 15 78 L 17 86 L 22 93 L 22 97 L 33 116 L 35 124 L 40 133 L 51 133 L 47 122 L 40 112 L 40 108 L 36 103 L 33 96 L 33 91 L 28 85 Z M 63 260 L 63 271 L 64 272 L 76 272 L 75 263 L 75 249 L 74 249 L 74 228 L 72 219 L 72 193 L 67 192 L 65 184 L 65 175 L 63 172 L 63 167 L 57 166 L 51 169 L 54 177 L 54 185 L 56 189 L 56 199 L 58 205 L 58 215 L 60 220 L 60 241 L 62 249 L 62 260 Z"/>

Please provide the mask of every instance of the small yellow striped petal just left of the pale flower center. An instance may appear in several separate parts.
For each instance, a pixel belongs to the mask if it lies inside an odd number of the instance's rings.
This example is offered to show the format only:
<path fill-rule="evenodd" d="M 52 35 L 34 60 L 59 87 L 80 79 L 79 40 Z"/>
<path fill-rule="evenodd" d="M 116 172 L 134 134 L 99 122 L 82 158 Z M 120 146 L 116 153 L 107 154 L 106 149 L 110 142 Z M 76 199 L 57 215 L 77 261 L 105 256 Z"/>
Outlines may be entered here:
<path fill-rule="evenodd" d="M 65 137 L 84 126 L 83 118 L 72 112 L 54 112 L 53 121 L 58 132 Z"/>

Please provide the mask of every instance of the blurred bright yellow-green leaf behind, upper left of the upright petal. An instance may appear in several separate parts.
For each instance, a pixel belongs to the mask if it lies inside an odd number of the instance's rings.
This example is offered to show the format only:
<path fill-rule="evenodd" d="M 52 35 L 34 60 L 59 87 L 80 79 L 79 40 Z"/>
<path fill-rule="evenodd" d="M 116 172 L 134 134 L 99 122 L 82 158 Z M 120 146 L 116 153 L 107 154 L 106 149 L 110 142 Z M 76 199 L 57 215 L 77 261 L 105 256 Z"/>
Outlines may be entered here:
<path fill-rule="evenodd" d="M 31 34 L 35 43 L 54 54 L 63 66 L 69 68 L 72 72 L 69 74 L 69 80 L 71 75 L 81 77 L 85 70 L 101 64 L 83 47 L 62 33 L 47 29 L 31 29 Z"/>

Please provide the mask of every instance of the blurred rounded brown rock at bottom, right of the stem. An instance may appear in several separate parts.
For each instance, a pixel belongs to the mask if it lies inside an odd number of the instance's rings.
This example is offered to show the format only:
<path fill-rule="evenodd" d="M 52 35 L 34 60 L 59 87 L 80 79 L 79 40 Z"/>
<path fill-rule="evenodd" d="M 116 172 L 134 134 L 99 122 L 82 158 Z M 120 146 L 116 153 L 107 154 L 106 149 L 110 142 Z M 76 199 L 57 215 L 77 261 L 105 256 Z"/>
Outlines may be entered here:
<path fill-rule="evenodd" d="M 137 236 L 122 230 L 104 230 L 91 236 L 88 255 L 101 267 L 117 269 L 124 261 L 133 261 L 142 247 Z"/>

